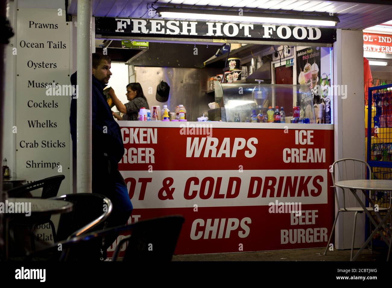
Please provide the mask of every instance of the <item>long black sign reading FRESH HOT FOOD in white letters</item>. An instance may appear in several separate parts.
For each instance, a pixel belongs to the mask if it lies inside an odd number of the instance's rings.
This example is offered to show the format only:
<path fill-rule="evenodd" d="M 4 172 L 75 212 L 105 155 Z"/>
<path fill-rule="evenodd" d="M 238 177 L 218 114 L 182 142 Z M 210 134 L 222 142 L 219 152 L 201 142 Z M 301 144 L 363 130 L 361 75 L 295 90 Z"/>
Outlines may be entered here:
<path fill-rule="evenodd" d="M 336 29 L 165 19 L 96 17 L 95 33 L 102 36 L 176 38 L 257 38 L 263 41 L 333 43 Z"/>

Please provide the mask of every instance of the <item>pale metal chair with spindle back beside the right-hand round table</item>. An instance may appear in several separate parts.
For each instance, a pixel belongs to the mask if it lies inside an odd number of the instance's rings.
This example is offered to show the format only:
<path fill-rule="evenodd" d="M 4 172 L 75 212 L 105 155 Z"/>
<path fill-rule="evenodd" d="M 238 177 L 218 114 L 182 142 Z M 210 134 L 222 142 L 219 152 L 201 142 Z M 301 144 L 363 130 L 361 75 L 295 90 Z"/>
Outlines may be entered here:
<path fill-rule="evenodd" d="M 341 168 L 339 168 L 339 164 L 341 164 Z M 350 169 L 348 173 L 347 173 L 347 170 L 348 170 L 347 166 L 350 166 L 349 168 L 352 167 L 352 170 Z M 337 160 L 332 164 L 332 172 L 331 172 L 332 183 L 333 183 L 332 187 L 334 187 L 336 204 L 338 206 L 338 214 L 336 214 L 334 225 L 332 226 L 331 234 L 329 236 L 328 244 L 327 244 L 327 247 L 325 248 L 324 255 L 327 255 L 328 246 L 331 243 L 332 235 L 334 234 L 334 231 L 335 231 L 336 221 L 338 220 L 339 213 L 340 212 L 355 212 L 354 227 L 353 227 L 353 232 L 352 232 L 351 255 L 350 255 L 350 261 L 352 260 L 353 251 L 354 251 L 354 240 L 355 240 L 355 229 L 356 229 L 357 215 L 359 213 L 363 213 L 364 210 L 362 207 L 356 207 L 357 201 L 355 199 L 354 199 L 354 203 L 353 203 L 354 205 L 353 206 L 351 205 L 352 203 L 350 203 L 350 196 L 351 196 L 350 191 L 348 191 L 349 193 L 347 194 L 348 206 L 346 206 L 346 191 L 345 191 L 346 189 L 335 186 L 335 172 L 338 172 L 338 176 L 339 176 L 338 181 L 366 179 L 366 177 L 365 177 L 366 174 L 364 173 L 364 168 L 365 168 L 365 173 L 369 173 L 368 175 L 371 175 L 372 168 L 368 165 L 368 163 L 366 163 L 363 160 L 354 159 L 354 158 L 344 158 L 344 159 Z M 351 172 L 352 172 L 352 177 L 349 176 Z M 357 177 L 357 174 L 359 174 L 360 176 Z M 348 178 L 350 178 L 350 179 L 348 179 Z M 339 203 L 337 188 L 339 190 L 341 190 L 341 192 L 343 193 L 343 201 L 342 201 L 343 203 Z M 361 193 L 360 194 L 361 200 L 362 200 L 362 197 L 363 197 L 363 194 Z M 340 204 L 342 204 L 342 205 L 340 205 Z M 367 207 L 367 209 L 369 211 L 373 211 L 372 207 Z M 388 209 L 389 208 L 380 207 L 379 211 L 388 210 Z M 372 242 L 370 243 L 370 247 L 373 252 Z"/>

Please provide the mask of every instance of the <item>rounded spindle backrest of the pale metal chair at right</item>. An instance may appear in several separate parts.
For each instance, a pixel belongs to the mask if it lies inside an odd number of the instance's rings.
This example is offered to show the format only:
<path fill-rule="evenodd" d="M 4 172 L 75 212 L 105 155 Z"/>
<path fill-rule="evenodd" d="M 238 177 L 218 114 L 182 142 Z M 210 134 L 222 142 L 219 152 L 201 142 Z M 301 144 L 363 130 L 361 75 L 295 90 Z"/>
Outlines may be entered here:
<path fill-rule="evenodd" d="M 366 175 L 369 175 L 370 178 L 371 173 L 372 173 L 372 168 L 370 167 L 370 165 L 360 159 L 344 158 L 344 159 L 336 160 L 332 164 L 331 176 L 332 176 L 332 183 L 334 185 L 335 197 L 336 197 L 336 203 L 338 205 L 338 209 L 340 208 L 338 194 L 337 194 L 338 189 L 343 192 L 343 205 L 342 205 L 343 208 L 352 207 L 352 205 L 356 207 L 357 203 L 355 199 L 353 200 L 354 202 L 350 201 L 350 198 L 354 196 L 352 196 L 351 193 L 348 193 L 347 194 L 348 206 L 346 206 L 346 199 L 345 199 L 346 189 L 335 187 L 335 174 L 336 176 L 338 176 L 338 181 L 345 181 L 345 180 L 366 179 Z M 362 193 L 360 194 L 360 197 L 362 199 Z"/>

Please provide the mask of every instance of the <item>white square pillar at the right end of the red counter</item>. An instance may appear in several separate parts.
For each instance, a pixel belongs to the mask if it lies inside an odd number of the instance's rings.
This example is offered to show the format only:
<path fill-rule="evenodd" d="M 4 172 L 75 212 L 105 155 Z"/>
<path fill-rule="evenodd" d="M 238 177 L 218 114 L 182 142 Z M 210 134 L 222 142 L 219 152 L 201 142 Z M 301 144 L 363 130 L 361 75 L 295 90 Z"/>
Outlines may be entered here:
<path fill-rule="evenodd" d="M 342 158 L 365 160 L 365 100 L 363 90 L 362 31 L 337 29 L 336 42 L 334 43 L 333 78 L 333 84 L 343 85 L 341 87 L 347 92 L 347 98 L 343 95 L 334 95 L 335 160 Z M 352 174 L 352 171 L 348 171 L 348 173 L 350 172 Z M 356 171 L 356 173 L 358 172 L 359 171 Z M 350 177 L 350 175 L 348 175 L 348 177 Z M 350 192 L 348 195 L 350 196 L 351 206 L 355 206 L 353 205 L 354 196 L 352 196 Z M 346 195 L 346 205 L 348 205 L 348 195 Z M 339 203 L 342 203 L 342 195 L 340 195 Z M 359 205 L 357 204 L 357 206 Z M 339 214 L 335 230 L 335 248 L 351 248 L 353 224 L 354 212 Z M 364 213 L 362 213 L 357 216 L 354 248 L 361 247 L 364 241 L 365 216 Z"/>

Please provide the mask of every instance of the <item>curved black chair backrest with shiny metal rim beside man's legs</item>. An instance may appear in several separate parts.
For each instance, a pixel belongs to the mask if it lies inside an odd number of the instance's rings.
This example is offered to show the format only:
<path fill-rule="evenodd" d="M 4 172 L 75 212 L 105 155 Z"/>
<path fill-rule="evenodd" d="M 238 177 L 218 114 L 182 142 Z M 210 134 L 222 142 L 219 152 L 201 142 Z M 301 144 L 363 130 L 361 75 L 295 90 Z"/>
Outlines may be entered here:
<path fill-rule="evenodd" d="M 78 237 L 91 231 L 113 210 L 113 204 L 109 198 L 95 193 L 67 194 L 52 199 L 73 203 L 72 211 L 60 216 L 56 239 L 54 239 L 56 242 Z"/>

